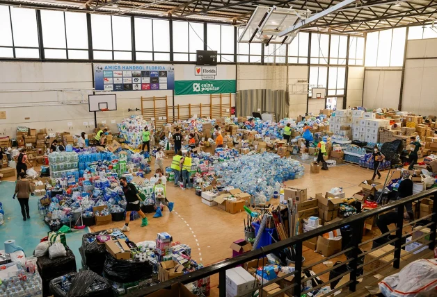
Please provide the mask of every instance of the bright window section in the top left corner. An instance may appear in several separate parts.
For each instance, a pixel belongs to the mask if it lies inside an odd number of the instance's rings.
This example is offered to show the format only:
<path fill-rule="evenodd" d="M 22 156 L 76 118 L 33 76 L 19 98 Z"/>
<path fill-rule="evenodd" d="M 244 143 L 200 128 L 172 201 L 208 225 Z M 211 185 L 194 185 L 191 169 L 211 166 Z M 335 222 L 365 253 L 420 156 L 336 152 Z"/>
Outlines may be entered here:
<path fill-rule="evenodd" d="M 0 57 L 40 58 L 38 46 L 35 10 L 0 6 Z"/>

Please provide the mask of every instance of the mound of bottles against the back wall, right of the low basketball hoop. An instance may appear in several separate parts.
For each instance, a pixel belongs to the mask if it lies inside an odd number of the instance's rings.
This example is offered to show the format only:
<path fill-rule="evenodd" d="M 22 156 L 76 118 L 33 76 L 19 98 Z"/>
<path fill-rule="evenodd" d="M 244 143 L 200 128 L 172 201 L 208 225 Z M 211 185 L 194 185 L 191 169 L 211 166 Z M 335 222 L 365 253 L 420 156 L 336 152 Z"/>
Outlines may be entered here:
<path fill-rule="evenodd" d="M 148 126 L 149 130 L 152 129 L 150 122 L 143 119 L 141 115 L 132 115 L 123 119 L 120 124 L 117 124 L 120 137 L 126 139 L 126 142 L 134 147 L 137 147 L 143 143 L 143 130 Z"/>

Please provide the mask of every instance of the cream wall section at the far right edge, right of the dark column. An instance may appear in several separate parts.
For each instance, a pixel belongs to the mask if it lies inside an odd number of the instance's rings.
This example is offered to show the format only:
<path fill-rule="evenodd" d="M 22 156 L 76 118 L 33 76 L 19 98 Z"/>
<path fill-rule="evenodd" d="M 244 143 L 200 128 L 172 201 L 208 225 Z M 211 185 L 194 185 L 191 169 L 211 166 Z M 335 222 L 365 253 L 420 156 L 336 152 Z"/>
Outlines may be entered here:
<path fill-rule="evenodd" d="M 437 114 L 437 39 L 408 40 L 406 58 L 402 110 Z"/>

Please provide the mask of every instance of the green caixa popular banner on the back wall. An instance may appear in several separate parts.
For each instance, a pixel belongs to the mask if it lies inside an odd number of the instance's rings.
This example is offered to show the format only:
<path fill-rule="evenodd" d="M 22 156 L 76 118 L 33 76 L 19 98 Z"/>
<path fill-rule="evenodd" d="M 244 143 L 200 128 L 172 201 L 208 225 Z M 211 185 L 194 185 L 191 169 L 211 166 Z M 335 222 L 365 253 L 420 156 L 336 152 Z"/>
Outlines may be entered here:
<path fill-rule="evenodd" d="M 237 92 L 237 80 L 175 80 L 175 95 Z"/>

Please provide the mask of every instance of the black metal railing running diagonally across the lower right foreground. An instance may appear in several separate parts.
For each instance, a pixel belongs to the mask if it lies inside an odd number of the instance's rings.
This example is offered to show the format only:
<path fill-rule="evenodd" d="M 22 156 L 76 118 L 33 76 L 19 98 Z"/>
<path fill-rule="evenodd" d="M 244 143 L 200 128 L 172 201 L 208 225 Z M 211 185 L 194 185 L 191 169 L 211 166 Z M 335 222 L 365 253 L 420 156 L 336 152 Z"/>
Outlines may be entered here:
<path fill-rule="evenodd" d="M 432 196 L 431 196 L 432 195 Z M 412 203 L 414 201 L 420 201 L 422 198 L 431 198 L 432 201 L 434 201 L 434 204 L 432 205 L 432 212 L 420 219 L 417 219 L 415 221 L 411 221 L 409 223 L 404 223 L 404 207 L 407 203 Z M 395 211 L 393 211 L 395 210 Z M 396 216 L 396 228 L 394 230 L 390 230 L 389 232 L 386 232 L 384 234 L 381 234 L 377 237 L 374 237 L 372 239 L 369 239 L 367 241 L 363 241 L 363 230 L 365 226 L 365 220 L 372 218 L 376 215 L 383 214 L 385 212 L 392 211 L 392 215 Z M 429 228 L 431 231 L 429 233 L 425 233 L 424 235 L 416 238 L 415 240 L 425 239 L 427 236 L 429 236 L 429 240 L 422 242 L 422 246 L 418 246 L 417 248 L 414 248 L 412 251 L 403 253 L 401 255 L 401 250 L 404 246 L 406 246 L 409 243 L 402 244 L 402 239 L 404 237 L 408 237 L 413 234 L 413 232 L 417 231 L 409 231 L 404 233 L 404 228 L 413 227 L 416 223 L 420 221 L 425 221 L 426 224 L 422 225 L 417 230 L 422 230 L 424 228 Z M 264 248 L 259 248 L 255 251 L 250 251 L 248 253 L 244 253 L 243 255 L 239 255 L 238 257 L 234 257 L 229 260 L 225 260 L 222 262 L 218 262 L 216 264 L 212 264 L 210 266 L 206 266 L 205 268 L 199 269 L 198 271 L 193 271 L 191 273 L 182 275 L 178 278 L 173 278 L 171 280 L 168 280 L 166 282 L 161 282 L 158 285 L 154 285 L 152 287 L 148 287 L 146 289 L 143 289 L 141 291 L 133 292 L 132 294 L 128 294 L 128 296 L 147 296 L 148 294 L 151 294 L 154 291 L 158 291 L 159 289 L 168 289 L 172 285 L 174 285 L 177 282 L 180 282 L 184 285 L 189 284 L 190 282 L 194 282 L 196 280 L 200 280 L 202 278 L 207 278 L 210 275 L 214 275 L 218 273 L 218 281 L 219 281 L 219 296 L 224 297 L 226 296 L 226 270 L 232 269 L 235 266 L 239 266 L 241 264 L 244 264 L 246 262 L 249 262 L 251 260 L 259 260 L 260 257 L 265 257 L 269 253 L 278 252 L 283 250 L 284 248 L 288 246 L 294 246 L 294 249 L 296 251 L 295 259 L 301 259 L 302 258 L 302 248 L 303 248 L 303 241 L 312 239 L 314 237 L 318 237 L 321 235 L 324 235 L 326 232 L 330 232 L 333 230 L 336 230 L 338 228 L 342 228 L 344 226 L 350 226 L 352 228 L 352 235 L 351 235 L 351 244 L 348 248 L 344 248 L 343 251 L 340 253 L 336 253 L 335 255 L 331 255 L 329 257 L 324 257 L 322 260 L 317 261 L 315 263 L 308 264 L 306 266 L 303 266 L 303 263 L 301 261 L 295 262 L 295 271 L 292 273 L 288 273 L 285 275 L 280 276 L 280 278 L 275 278 L 269 282 L 264 282 L 262 285 L 255 286 L 254 289 L 251 291 L 247 291 L 246 294 L 250 294 L 253 291 L 256 291 L 258 289 L 262 290 L 263 287 L 267 285 L 271 285 L 272 283 L 278 282 L 279 280 L 282 280 L 284 278 L 288 278 L 291 275 L 294 275 L 293 283 L 292 285 L 288 285 L 287 287 L 283 287 L 280 291 L 277 291 L 275 294 L 271 296 L 279 296 L 280 294 L 283 294 L 285 291 L 288 291 L 292 289 L 293 296 L 301 296 L 301 294 L 308 293 L 309 291 L 315 290 L 317 288 L 324 287 L 326 285 L 329 285 L 331 282 L 334 282 L 335 280 L 340 280 L 344 275 L 349 274 L 349 281 L 345 282 L 344 284 L 340 285 L 340 287 L 336 287 L 328 294 L 325 294 L 324 296 L 330 296 L 335 291 L 338 291 L 340 289 L 344 289 L 345 287 L 349 286 L 349 291 L 356 291 L 356 286 L 358 284 L 357 282 L 357 272 L 361 271 L 364 266 L 367 266 L 369 264 L 372 264 L 376 261 L 381 260 L 381 258 L 386 257 L 387 255 L 393 255 L 392 260 L 384 262 L 382 265 L 376 267 L 375 269 L 372 269 L 369 271 L 368 269 L 363 272 L 362 275 L 358 275 L 359 278 L 365 278 L 368 275 L 372 275 L 372 273 L 375 273 L 376 271 L 380 271 L 381 269 L 387 268 L 390 264 L 395 269 L 399 269 L 401 257 L 406 257 L 407 255 L 410 255 L 412 253 L 415 253 L 415 251 L 420 250 L 420 248 L 423 248 L 423 246 L 428 246 L 430 250 L 434 250 L 434 247 L 436 245 L 436 221 L 437 221 L 437 188 L 429 189 L 424 192 L 420 192 L 419 194 L 415 194 L 413 196 L 409 196 L 407 198 L 403 198 L 401 200 L 395 201 L 393 203 L 389 203 L 387 205 L 383 205 L 381 207 L 377 207 L 374 210 L 369 210 L 362 212 L 360 214 L 356 214 L 352 217 L 349 217 L 347 219 L 342 219 L 340 221 L 337 221 L 335 223 L 330 223 L 326 226 L 316 228 L 315 230 L 305 232 L 301 235 L 296 235 L 294 237 L 290 237 L 288 239 L 278 241 L 274 244 L 271 244 L 269 246 L 264 246 Z M 370 249 L 370 251 L 363 252 L 360 247 L 364 246 L 365 244 L 370 244 L 372 241 L 376 241 L 378 239 L 381 239 L 383 237 L 388 237 L 392 232 L 396 232 L 395 235 L 392 235 L 392 239 L 384 242 L 380 246 L 377 246 L 375 248 Z M 388 246 L 388 244 L 393 245 L 391 251 L 388 251 L 386 253 L 383 253 L 382 255 L 379 255 L 377 257 L 372 258 L 369 262 L 364 262 L 363 264 L 359 264 L 359 259 L 363 256 L 370 254 L 376 250 L 379 250 L 380 248 L 383 248 L 384 246 Z M 348 253 L 347 260 L 343 261 L 340 264 L 335 264 L 334 266 L 321 271 L 319 273 L 316 273 L 315 275 L 306 276 L 302 278 L 302 273 L 308 269 L 311 269 L 313 266 L 316 266 L 318 264 L 321 264 L 325 261 L 331 260 L 335 257 L 339 257 L 341 255 L 344 255 L 345 253 Z M 343 265 L 347 266 L 347 271 L 344 273 L 341 273 L 340 275 L 337 275 L 335 278 L 332 278 L 331 280 L 328 280 L 328 282 L 323 282 L 321 284 L 318 284 L 311 289 L 308 289 L 306 291 L 303 291 L 302 285 L 305 284 L 308 280 L 314 280 L 315 278 L 319 277 L 320 275 L 324 275 L 325 273 L 329 273 L 333 269 L 337 269 L 340 266 Z M 261 266 L 261 265 L 260 265 Z M 264 294 L 263 294 L 264 295 Z M 261 296 L 261 294 L 260 294 Z"/>

